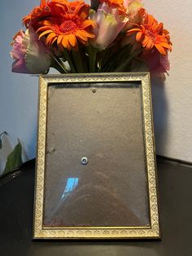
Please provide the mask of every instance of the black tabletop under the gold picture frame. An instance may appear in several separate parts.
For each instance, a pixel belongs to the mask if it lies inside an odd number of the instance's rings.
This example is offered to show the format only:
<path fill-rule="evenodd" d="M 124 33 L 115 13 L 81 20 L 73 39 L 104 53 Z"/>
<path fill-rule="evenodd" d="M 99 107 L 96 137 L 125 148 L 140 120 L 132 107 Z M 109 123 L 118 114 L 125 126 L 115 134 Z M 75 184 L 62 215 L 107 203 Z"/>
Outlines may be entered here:
<path fill-rule="evenodd" d="M 159 158 L 162 241 L 32 241 L 35 161 L 0 187 L 1 256 L 190 256 L 192 168 Z"/>

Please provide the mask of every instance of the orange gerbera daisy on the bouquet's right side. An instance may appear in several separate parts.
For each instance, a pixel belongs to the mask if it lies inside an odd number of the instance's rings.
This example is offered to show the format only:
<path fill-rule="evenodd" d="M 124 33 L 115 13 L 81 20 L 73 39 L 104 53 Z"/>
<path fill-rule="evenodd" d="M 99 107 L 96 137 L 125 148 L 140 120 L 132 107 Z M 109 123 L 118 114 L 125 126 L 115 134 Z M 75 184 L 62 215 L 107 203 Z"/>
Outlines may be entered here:
<path fill-rule="evenodd" d="M 142 23 L 137 26 L 138 28 L 130 29 L 127 35 L 136 33 L 136 41 L 141 42 L 146 51 L 151 51 L 154 46 L 161 55 L 172 51 L 168 30 L 164 29 L 163 23 L 158 24 L 152 15 L 145 13 Z"/>

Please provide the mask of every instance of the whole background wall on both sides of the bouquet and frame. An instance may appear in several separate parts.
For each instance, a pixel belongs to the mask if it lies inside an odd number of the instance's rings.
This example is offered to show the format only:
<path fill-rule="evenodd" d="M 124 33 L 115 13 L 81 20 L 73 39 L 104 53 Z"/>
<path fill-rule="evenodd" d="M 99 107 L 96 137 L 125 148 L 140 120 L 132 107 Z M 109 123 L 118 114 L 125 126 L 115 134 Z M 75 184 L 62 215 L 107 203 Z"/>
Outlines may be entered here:
<path fill-rule="evenodd" d="M 37 77 L 11 73 L 12 36 L 21 18 L 38 0 L 0 2 L 0 132 L 24 143 L 28 158 L 35 157 Z M 192 161 L 192 1 L 145 1 L 146 9 L 170 30 L 173 51 L 166 81 L 153 81 L 156 151 L 166 157 Z"/>

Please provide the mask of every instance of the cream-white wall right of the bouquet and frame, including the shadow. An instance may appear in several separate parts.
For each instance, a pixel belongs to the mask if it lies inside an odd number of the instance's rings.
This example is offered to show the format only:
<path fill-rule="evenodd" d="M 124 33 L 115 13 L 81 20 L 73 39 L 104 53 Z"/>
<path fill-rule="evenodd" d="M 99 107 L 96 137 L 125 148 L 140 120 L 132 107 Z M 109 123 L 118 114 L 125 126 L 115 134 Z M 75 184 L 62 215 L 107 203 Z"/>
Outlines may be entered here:
<path fill-rule="evenodd" d="M 170 31 L 171 69 L 164 85 L 153 82 L 157 153 L 192 162 L 192 1 L 145 1 Z"/>

